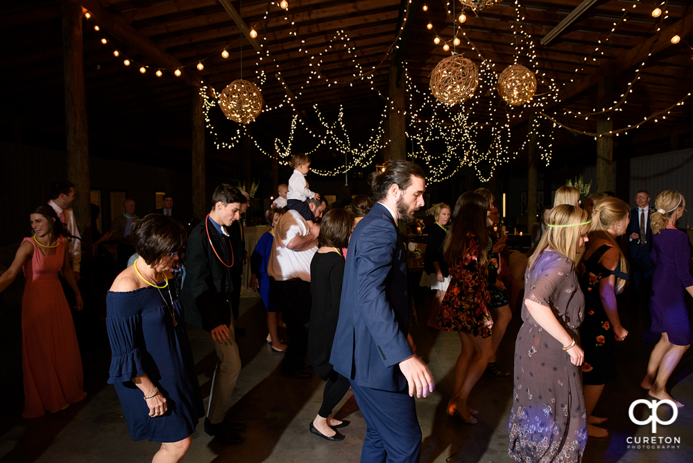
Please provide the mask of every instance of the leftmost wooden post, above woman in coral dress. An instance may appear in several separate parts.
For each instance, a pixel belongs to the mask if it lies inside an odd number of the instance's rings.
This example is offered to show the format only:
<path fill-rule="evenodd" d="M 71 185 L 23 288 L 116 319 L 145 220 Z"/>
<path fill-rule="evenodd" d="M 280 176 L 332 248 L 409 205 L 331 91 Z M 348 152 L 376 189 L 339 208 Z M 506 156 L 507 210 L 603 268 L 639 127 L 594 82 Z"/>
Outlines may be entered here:
<path fill-rule="evenodd" d="M 82 235 L 83 255 L 92 254 L 89 137 L 82 56 L 82 7 L 62 1 L 62 52 L 65 65 L 65 131 L 67 178 L 78 193 L 72 202 L 77 229 Z"/>

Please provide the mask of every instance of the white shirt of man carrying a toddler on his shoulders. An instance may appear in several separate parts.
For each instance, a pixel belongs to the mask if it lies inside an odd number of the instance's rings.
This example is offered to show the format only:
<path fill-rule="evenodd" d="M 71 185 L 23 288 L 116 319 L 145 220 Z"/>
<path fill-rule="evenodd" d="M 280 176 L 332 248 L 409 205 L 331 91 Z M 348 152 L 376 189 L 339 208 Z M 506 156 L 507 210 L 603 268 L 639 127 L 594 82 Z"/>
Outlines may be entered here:
<path fill-rule="evenodd" d="M 289 249 L 291 239 L 308 235 L 308 224 L 296 210 L 282 215 L 274 228 L 274 242 L 267 264 L 267 273 L 277 281 L 300 278 L 310 282 L 310 262 L 318 251 L 317 237 L 303 249 Z"/>

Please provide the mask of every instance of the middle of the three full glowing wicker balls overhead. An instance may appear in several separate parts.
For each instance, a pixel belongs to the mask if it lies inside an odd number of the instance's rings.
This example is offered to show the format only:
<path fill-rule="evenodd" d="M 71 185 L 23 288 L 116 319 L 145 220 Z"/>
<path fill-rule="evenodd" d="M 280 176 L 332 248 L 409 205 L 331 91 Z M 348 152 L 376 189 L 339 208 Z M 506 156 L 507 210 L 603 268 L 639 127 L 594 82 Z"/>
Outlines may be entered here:
<path fill-rule="evenodd" d="M 456 105 L 468 99 L 479 85 L 479 71 L 472 60 L 453 55 L 440 60 L 431 71 L 431 93 L 441 103 Z"/>

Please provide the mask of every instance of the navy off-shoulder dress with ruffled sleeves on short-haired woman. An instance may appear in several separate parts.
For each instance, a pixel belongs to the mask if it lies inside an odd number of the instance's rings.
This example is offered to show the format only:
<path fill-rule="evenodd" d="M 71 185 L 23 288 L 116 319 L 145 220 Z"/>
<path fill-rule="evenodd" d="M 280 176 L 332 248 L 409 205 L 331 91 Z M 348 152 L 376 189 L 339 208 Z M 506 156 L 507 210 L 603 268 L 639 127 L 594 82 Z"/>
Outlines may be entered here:
<path fill-rule="evenodd" d="M 172 282 L 172 280 L 169 280 Z M 168 289 L 162 289 L 169 298 Z M 178 325 L 155 287 L 108 292 L 106 327 L 111 344 L 108 382 L 115 385 L 132 440 L 176 442 L 193 432 L 205 416 L 185 318 L 173 294 Z M 147 374 L 166 398 L 163 416 L 149 416 L 144 394 L 132 378 Z"/>

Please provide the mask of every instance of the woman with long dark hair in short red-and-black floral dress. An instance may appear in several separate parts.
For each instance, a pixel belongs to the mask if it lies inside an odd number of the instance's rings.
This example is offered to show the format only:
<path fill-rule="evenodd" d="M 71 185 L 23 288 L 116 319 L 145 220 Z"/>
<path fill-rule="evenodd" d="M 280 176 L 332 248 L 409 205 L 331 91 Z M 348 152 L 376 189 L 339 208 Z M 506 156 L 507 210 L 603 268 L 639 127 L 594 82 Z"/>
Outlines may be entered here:
<path fill-rule="evenodd" d="M 438 314 L 440 329 L 459 332 L 462 343 L 447 414 L 472 424 L 477 422 L 472 416 L 476 410 L 467 406 L 467 398 L 493 355 L 493 319 L 487 308 L 490 296 L 486 290 L 486 212 L 488 201 L 477 193 L 467 192 L 457 200 L 452 228 L 445 241 L 450 286 Z"/>

